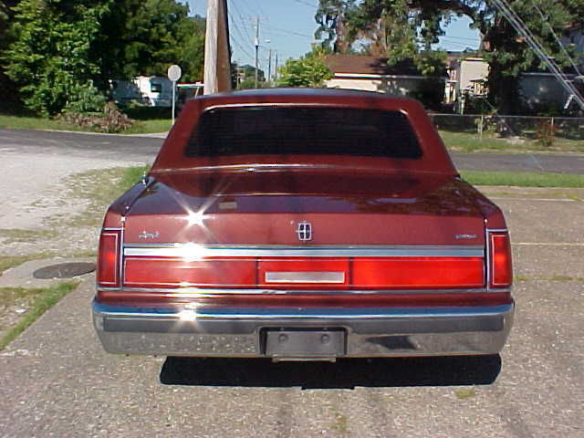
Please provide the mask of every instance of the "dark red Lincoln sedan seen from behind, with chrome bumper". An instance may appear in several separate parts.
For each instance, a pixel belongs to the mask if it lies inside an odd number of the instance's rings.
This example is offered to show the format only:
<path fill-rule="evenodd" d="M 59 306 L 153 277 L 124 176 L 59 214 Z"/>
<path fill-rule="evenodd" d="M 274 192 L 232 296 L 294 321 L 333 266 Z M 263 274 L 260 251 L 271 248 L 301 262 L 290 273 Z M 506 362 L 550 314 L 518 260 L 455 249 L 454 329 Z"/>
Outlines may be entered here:
<path fill-rule="evenodd" d="M 500 351 L 501 211 L 422 106 L 333 89 L 189 101 L 106 214 L 94 325 L 112 353 L 336 360 Z"/>

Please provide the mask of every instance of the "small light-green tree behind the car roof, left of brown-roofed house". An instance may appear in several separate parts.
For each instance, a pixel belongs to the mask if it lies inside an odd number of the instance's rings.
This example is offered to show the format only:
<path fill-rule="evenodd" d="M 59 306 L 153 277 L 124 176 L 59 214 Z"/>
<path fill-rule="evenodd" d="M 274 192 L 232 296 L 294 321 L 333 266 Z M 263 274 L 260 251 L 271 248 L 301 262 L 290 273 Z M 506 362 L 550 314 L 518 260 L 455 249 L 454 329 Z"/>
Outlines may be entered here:
<path fill-rule="evenodd" d="M 300 59 L 288 59 L 278 69 L 279 87 L 322 87 L 324 81 L 333 75 L 324 62 L 325 51 L 321 47 L 313 50 Z"/>

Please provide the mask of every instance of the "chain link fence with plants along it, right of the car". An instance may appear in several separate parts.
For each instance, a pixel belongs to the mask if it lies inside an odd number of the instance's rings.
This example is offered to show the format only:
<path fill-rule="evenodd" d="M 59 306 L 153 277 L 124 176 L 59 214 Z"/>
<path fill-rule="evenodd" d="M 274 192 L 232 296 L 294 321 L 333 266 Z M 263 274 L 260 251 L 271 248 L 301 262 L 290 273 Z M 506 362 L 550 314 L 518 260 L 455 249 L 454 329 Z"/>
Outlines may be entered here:
<path fill-rule="evenodd" d="M 468 133 L 497 133 L 503 137 L 540 139 L 552 135 L 584 141 L 584 118 L 499 115 L 432 114 L 438 130 Z"/>

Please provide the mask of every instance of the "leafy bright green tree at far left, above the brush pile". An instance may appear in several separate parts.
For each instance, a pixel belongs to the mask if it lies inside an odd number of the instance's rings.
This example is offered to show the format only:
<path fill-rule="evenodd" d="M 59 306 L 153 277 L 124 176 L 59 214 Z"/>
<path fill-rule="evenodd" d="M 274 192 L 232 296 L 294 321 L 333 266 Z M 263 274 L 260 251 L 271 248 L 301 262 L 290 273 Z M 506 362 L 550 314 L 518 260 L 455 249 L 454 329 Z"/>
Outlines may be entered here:
<path fill-rule="evenodd" d="M 26 107 L 44 115 L 100 110 L 104 99 L 93 83 L 99 65 L 91 52 L 107 10 L 107 0 L 22 0 L 15 6 L 5 71 Z"/>

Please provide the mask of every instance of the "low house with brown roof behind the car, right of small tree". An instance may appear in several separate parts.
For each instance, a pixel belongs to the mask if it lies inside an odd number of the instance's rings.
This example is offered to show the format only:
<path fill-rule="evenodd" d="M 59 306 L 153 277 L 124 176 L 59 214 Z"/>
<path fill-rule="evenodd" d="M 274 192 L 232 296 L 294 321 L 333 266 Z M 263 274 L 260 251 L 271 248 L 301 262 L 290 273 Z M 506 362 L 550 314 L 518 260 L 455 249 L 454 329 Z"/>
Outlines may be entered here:
<path fill-rule="evenodd" d="M 386 57 L 360 55 L 328 55 L 325 63 L 334 78 L 326 81 L 329 89 L 363 89 L 398 96 L 415 96 L 427 91 L 429 80 L 436 79 L 443 89 L 445 77 L 428 78 L 415 68 L 412 61 L 402 61 L 390 66 Z"/>

